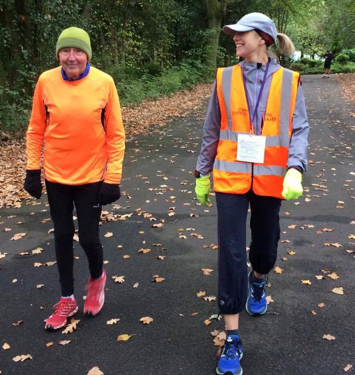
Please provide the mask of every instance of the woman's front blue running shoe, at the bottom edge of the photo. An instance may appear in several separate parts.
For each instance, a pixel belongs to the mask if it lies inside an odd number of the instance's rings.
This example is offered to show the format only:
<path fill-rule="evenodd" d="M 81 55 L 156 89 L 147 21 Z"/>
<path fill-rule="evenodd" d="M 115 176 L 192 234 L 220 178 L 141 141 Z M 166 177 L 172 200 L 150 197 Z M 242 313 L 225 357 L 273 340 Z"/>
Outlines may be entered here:
<path fill-rule="evenodd" d="M 222 355 L 216 369 L 219 375 L 242 375 L 239 360 L 243 357 L 242 340 L 236 334 L 226 337 Z"/>

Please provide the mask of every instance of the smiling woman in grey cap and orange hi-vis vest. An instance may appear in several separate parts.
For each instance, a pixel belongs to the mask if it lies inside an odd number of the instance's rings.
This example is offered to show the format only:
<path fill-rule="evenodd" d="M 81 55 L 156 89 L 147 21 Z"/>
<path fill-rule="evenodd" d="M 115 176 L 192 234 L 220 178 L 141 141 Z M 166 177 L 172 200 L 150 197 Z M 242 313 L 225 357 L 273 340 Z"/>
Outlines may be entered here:
<path fill-rule="evenodd" d="M 219 68 L 210 98 L 195 177 L 196 195 L 209 206 L 210 178 L 218 210 L 218 307 L 226 340 L 217 374 L 241 375 L 239 313 L 266 312 L 265 276 L 273 268 L 280 239 L 282 199 L 302 195 L 309 125 L 299 74 L 269 57 L 278 41 L 290 54 L 290 39 L 273 21 L 250 13 L 223 27 L 233 36 L 238 65 Z M 247 273 L 246 217 L 251 208 Z"/>

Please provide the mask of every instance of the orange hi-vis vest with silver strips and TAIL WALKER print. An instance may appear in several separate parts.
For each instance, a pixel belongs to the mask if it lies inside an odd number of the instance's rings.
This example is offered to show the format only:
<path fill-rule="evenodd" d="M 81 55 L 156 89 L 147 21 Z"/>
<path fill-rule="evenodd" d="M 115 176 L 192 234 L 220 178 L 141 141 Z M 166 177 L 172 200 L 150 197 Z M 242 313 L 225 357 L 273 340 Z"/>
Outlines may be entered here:
<path fill-rule="evenodd" d="M 264 163 L 237 161 L 238 134 L 250 133 L 242 67 L 217 70 L 216 85 L 221 109 L 221 131 L 213 166 L 213 189 L 243 194 L 252 187 L 257 195 L 283 199 L 282 183 L 288 161 L 292 116 L 299 73 L 281 67 L 273 73 L 261 135 L 266 136 Z"/>

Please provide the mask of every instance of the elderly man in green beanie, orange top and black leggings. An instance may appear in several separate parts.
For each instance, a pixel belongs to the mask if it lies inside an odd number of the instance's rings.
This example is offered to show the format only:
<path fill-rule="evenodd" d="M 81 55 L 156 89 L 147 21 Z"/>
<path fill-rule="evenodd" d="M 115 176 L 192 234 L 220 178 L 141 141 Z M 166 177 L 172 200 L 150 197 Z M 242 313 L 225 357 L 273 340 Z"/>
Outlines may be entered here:
<path fill-rule="evenodd" d="M 27 169 L 24 188 L 42 194 L 40 158 L 62 290 L 45 329 L 56 330 L 78 311 L 74 298 L 73 208 L 79 242 L 89 261 L 90 277 L 84 313 L 96 315 L 105 299 L 106 272 L 99 237 L 102 205 L 120 197 L 119 183 L 125 132 L 117 90 L 108 74 L 90 66 L 91 45 L 86 31 L 65 29 L 56 54 L 59 67 L 41 74 L 35 88 L 27 130 Z"/>

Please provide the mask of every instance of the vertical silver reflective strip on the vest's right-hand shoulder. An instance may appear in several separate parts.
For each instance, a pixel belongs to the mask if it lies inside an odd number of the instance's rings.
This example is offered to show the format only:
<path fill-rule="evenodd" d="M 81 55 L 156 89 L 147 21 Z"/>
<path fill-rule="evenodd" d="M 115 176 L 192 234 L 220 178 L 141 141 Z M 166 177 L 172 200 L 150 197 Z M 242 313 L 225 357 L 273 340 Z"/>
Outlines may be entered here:
<path fill-rule="evenodd" d="M 291 89 L 293 74 L 290 70 L 284 69 L 281 88 L 281 109 L 280 109 L 280 146 L 289 146 L 288 125 L 291 106 Z"/>

